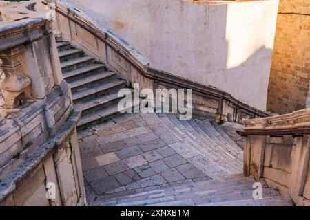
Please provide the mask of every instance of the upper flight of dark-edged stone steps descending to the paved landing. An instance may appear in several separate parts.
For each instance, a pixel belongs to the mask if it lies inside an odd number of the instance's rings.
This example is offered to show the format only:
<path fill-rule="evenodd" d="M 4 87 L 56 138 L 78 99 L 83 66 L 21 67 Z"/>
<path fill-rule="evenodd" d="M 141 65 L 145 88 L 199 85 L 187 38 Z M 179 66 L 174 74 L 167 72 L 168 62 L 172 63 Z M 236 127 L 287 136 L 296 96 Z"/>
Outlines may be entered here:
<path fill-rule="evenodd" d="M 70 84 L 74 104 L 83 104 L 78 129 L 87 129 L 118 114 L 118 90 L 126 81 L 118 78 L 93 56 L 68 42 L 57 41 L 63 78 Z M 132 90 L 132 89 L 131 89 Z"/>

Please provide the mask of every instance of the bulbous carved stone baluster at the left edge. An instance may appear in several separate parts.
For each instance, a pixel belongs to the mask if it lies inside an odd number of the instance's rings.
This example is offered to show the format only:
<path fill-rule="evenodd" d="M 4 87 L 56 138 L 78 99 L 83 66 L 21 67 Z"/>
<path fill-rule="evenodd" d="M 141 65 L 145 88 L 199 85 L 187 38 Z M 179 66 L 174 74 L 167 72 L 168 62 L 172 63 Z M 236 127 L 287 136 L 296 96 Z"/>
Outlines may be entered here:
<path fill-rule="evenodd" d="M 30 78 L 23 75 L 19 56 L 23 46 L 10 48 L 0 52 L 1 68 L 5 78 L 0 82 L 4 107 L 14 109 L 25 102 L 25 89 L 30 85 Z"/>

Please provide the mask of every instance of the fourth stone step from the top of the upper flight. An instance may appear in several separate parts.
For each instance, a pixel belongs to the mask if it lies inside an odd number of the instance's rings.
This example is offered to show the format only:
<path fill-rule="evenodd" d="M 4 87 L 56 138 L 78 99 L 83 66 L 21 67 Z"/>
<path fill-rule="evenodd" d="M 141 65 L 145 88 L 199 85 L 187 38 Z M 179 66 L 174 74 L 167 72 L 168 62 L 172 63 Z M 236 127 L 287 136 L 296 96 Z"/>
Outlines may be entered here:
<path fill-rule="evenodd" d="M 72 80 L 76 78 L 80 78 L 81 76 L 90 76 L 96 72 L 102 71 L 105 65 L 103 64 L 91 64 L 85 67 L 80 67 L 78 69 L 73 69 L 71 71 L 63 73 L 63 78 L 70 83 Z"/>

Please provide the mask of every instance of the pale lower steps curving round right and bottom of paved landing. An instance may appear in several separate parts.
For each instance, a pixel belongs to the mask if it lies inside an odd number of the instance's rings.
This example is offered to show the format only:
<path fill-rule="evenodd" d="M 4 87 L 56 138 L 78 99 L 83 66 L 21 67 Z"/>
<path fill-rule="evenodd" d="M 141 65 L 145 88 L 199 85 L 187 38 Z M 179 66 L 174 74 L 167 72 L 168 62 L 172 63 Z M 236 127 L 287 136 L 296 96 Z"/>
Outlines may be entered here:
<path fill-rule="evenodd" d="M 151 116 L 152 115 L 152 116 Z M 176 151 L 183 157 L 190 153 L 203 155 L 203 170 L 211 180 L 185 181 L 162 184 L 154 190 L 130 195 L 103 195 L 90 206 L 292 206 L 291 199 L 280 195 L 275 188 L 262 184 L 262 199 L 254 199 L 256 185 L 253 178 L 242 174 L 242 148 L 233 142 L 223 129 L 212 120 L 194 118 L 180 121 L 172 113 L 141 114 L 151 128 L 167 136 L 177 137 L 186 148 Z M 154 122 L 156 124 L 154 124 Z M 156 133 L 157 134 L 157 133 Z M 165 137 L 163 137 L 165 138 Z M 184 151 L 182 153 L 181 151 Z M 191 159 L 188 159 L 191 162 Z M 199 167 L 200 166 L 200 167 Z"/>

